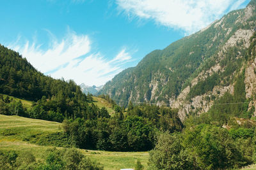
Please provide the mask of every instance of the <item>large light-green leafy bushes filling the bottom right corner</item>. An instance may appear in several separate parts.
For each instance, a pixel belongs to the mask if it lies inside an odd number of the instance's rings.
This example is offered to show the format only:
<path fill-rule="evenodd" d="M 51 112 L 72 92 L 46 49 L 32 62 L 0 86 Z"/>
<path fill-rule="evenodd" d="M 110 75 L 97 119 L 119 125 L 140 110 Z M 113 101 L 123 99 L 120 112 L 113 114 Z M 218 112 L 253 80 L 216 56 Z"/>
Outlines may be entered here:
<path fill-rule="evenodd" d="M 152 169 L 227 169 L 252 164 L 247 139 L 235 141 L 226 129 L 200 124 L 182 134 L 164 132 L 150 151 Z"/>

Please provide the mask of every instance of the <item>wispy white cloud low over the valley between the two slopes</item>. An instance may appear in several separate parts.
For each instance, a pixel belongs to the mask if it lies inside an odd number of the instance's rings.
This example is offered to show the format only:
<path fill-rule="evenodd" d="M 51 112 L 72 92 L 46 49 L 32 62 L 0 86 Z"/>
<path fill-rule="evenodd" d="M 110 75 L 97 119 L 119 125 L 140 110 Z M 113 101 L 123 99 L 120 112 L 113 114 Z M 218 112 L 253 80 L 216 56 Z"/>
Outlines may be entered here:
<path fill-rule="evenodd" d="M 20 36 L 15 43 L 8 45 L 42 73 L 51 74 L 53 78 L 72 79 L 77 84 L 103 85 L 124 69 L 125 62 L 132 59 L 125 48 L 109 60 L 99 52 L 93 53 L 91 46 L 88 36 L 77 35 L 72 31 L 61 41 L 52 35 L 47 50 L 42 50 L 42 45 L 36 45 L 35 42 L 21 44 Z"/>

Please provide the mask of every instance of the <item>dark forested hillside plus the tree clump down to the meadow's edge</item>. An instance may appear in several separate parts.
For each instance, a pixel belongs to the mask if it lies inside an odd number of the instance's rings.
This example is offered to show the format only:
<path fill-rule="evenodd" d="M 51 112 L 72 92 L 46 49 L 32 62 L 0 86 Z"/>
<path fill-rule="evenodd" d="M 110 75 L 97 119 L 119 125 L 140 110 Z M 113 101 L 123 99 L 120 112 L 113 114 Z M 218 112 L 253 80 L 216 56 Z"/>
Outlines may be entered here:
<path fill-rule="evenodd" d="M 63 132 L 51 134 L 55 146 L 112 151 L 147 151 L 154 148 L 157 131 L 181 131 L 177 110 L 158 106 L 118 106 L 109 96 L 98 107 L 91 95 L 81 92 L 74 81 L 55 80 L 36 71 L 19 53 L 1 48 L 0 114 L 19 115 L 63 122 Z M 1 94 L 2 93 L 2 94 Z M 4 95 L 3 95 L 4 94 Z M 25 106 L 17 98 L 33 101 Z M 94 97 L 95 99 L 95 97 Z M 109 108 L 111 107 L 111 108 Z M 4 135 L 9 136 L 8 131 Z M 27 141 L 39 138 L 35 135 Z M 61 139 L 54 144 L 54 140 Z"/>

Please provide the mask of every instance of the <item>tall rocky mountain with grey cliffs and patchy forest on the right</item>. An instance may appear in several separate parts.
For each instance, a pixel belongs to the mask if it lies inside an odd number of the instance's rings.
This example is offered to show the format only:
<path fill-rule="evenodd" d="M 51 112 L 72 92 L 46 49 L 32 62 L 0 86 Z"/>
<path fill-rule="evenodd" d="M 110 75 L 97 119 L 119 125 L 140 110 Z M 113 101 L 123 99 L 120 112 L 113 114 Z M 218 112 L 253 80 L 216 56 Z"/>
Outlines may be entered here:
<path fill-rule="evenodd" d="M 248 109 L 252 109 L 256 106 L 255 7 L 252 0 L 205 29 L 148 53 L 136 67 L 108 81 L 100 93 L 122 105 L 132 101 L 179 108 L 184 119 L 209 111 L 226 92 L 234 95 L 239 81 L 244 83 L 240 95 L 250 100 Z"/>

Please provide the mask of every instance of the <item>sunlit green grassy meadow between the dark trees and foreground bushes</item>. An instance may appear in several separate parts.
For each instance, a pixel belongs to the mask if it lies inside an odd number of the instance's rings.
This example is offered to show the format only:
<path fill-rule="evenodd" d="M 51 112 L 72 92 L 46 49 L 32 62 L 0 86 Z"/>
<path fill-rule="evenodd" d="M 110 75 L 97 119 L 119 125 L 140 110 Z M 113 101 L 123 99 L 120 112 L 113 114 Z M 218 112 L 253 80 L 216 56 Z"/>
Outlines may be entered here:
<path fill-rule="evenodd" d="M 33 118 L 0 115 L 0 150 L 15 150 L 18 153 L 31 152 L 42 160 L 51 146 L 40 146 L 34 142 L 44 139 L 45 134 L 61 132 L 61 124 Z M 38 138 L 41 136 L 41 138 Z M 28 141 L 26 141 L 28 139 Z M 31 139 L 31 141 L 29 140 Z M 58 147 L 61 149 L 61 147 Z M 81 150 L 84 155 L 96 160 L 104 169 L 134 168 L 136 160 L 147 169 L 148 152 L 104 152 Z"/>

